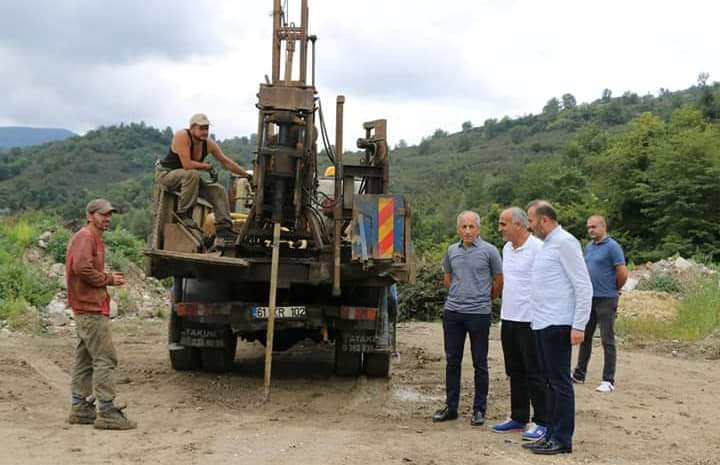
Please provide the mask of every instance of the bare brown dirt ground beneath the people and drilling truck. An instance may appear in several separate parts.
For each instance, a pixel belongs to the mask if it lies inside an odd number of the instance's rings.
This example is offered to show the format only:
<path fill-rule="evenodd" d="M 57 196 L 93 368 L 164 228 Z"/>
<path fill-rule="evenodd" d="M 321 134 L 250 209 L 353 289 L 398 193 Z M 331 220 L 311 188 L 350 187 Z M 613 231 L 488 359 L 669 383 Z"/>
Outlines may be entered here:
<path fill-rule="evenodd" d="M 720 464 L 720 365 L 620 346 L 618 390 L 576 388 L 574 452 L 537 457 L 518 433 L 469 424 L 471 365 L 463 366 L 461 418 L 432 424 L 444 399 L 442 333 L 437 323 L 404 323 L 390 380 L 332 375 L 331 347 L 296 346 L 274 360 L 262 402 L 263 351 L 239 344 L 235 369 L 217 376 L 174 372 L 165 323 L 113 323 L 120 399 L 134 431 L 65 423 L 70 330 L 0 338 L 0 464 Z M 488 423 L 506 417 L 508 383 L 494 328 Z"/>

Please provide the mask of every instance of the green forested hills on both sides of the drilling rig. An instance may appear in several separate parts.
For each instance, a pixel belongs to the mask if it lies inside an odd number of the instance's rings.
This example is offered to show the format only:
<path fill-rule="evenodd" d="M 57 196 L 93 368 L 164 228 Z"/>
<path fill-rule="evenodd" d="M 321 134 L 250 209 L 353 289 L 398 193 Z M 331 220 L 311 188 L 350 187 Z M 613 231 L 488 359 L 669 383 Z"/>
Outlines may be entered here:
<path fill-rule="evenodd" d="M 412 202 L 416 248 L 442 249 L 463 209 L 477 210 L 483 236 L 500 244 L 499 209 L 542 197 L 581 238 L 589 214 L 607 215 L 636 261 L 674 253 L 720 261 L 720 85 L 706 81 L 656 96 L 605 90 L 589 103 L 565 94 L 537 115 L 458 122 L 456 133 L 438 129 L 416 146 L 401 141 L 390 154 L 391 183 Z M 143 234 L 153 163 L 171 136 L 170 128 L 130 124 L 0 152 L 0 209 L 77 217 L 103 195 Z M 254 136 L 220 144 L 247 166 Z"/>

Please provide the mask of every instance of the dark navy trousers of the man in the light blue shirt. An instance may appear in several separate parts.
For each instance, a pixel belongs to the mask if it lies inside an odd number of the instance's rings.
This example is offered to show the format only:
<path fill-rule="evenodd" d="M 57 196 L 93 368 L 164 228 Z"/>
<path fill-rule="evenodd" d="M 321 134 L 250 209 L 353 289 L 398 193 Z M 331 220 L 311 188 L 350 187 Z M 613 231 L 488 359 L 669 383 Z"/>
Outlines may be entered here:
<path fill-rule="evenodd" d="M 535 334 L 548 389 L 548 434 L 561 446 L 572 447 L 575 431 L 575 391 L 570 379 L 570 326 L 548 326 Z"/>

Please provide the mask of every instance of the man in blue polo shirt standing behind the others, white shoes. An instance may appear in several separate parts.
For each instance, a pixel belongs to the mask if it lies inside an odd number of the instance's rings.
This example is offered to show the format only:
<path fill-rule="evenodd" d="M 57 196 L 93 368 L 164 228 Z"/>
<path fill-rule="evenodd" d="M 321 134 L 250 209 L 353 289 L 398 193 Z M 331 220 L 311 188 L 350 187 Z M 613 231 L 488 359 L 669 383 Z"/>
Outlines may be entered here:
<path fill-rule="evenodd" d="M 595 328 L 600 326 L 604 352 L 603 378 L 595 389 L 598 392 L 615 390 L 615 316 L 617 314 L 619 291 L 627 281 L 627 268 L 622 247 L 607 234 L 607 223 L 600 215 L 593 215 L 587 221 L 590 242 L 585 246 L 585 263 L 593 285 L 593 301 L 590 320 L 585 328 L 585 340 L 580 346 L 578 364 L 573 381 L 584 383 L 587 374 L 592 338 Z"/>

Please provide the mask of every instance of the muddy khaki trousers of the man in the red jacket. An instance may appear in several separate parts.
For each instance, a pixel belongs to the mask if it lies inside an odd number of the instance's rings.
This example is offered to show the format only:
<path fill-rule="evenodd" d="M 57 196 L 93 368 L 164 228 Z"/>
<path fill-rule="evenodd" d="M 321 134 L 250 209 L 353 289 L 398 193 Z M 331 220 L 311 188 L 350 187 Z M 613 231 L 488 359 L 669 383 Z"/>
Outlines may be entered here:
<path fill-rule="evenodd" d="M 102 402 L 115 398 L 113 371 L 117 355 L 110 334 L 110 319 L 103 315 L 75 314 L 78 344 L 72 373 L 72 393 L 83 398 L 93 392 Z"/>

